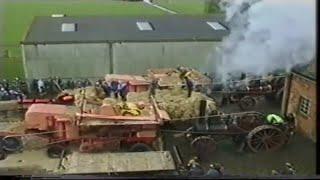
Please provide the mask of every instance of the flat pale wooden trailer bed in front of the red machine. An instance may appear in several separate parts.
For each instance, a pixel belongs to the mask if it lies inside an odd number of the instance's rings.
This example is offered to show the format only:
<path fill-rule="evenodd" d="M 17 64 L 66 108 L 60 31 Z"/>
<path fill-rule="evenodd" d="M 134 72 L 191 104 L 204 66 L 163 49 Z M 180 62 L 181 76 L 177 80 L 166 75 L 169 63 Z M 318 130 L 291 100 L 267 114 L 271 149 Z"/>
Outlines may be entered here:
<path fill-rule="evenodd" d="M 174 170 L 175 164 L 169 151 L 130 153 L 78 153 L 64 161 L 64 174 L 143 172 Z"/>

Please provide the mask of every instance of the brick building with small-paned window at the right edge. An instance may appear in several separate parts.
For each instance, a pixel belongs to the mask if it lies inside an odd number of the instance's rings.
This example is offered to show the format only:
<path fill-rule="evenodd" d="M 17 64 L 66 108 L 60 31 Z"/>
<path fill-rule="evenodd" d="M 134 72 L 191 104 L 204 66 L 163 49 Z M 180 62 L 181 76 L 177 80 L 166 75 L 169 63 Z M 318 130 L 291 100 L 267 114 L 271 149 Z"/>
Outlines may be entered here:
<path fill-rule="evenodd" d="M 299 133 L 316 142 L 316 60 L 294 68 L 286 79 L 282 113 L 293 113 Z"/>

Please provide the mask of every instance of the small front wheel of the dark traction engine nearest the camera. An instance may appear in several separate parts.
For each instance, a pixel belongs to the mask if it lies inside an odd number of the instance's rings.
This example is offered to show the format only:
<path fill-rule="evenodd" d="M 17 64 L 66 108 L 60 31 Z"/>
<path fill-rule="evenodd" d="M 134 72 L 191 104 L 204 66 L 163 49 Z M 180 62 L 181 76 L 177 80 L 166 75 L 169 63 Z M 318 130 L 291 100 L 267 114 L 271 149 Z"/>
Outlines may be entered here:
<path fill-rule="evenodd" d="M 208 136 L 199 136 L 191 142 L 191 146 L 195 149 L 198 157 L 204 161 L 216 150 L 216 141 Z"/>

